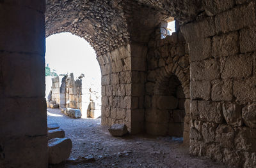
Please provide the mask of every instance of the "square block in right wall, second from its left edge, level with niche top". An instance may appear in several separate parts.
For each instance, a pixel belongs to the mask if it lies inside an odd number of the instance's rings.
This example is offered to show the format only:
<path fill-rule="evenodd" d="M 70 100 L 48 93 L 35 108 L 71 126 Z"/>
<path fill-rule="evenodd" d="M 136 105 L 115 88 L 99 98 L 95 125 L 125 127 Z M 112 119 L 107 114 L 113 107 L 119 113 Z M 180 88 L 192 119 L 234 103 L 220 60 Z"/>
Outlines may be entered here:
<path fill-rule="evenodd" d="M 232 101 L 232 80 L 212 81 L 212 101 Z"/>

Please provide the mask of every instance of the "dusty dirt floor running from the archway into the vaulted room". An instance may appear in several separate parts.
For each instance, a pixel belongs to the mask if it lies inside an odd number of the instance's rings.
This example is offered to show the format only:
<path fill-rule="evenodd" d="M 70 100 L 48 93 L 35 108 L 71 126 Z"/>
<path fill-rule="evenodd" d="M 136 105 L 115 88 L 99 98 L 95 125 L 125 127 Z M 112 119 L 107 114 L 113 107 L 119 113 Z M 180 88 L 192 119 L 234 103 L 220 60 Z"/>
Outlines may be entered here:
<path fill-rule="evenodd" d="M 91 162 L 65 162 L 50 167 L 227 167 L 205 158 L 192 157 L 182 139 L 127 135 L 113 137 L 99 119 L 73 119 L 60 109 L 47 109 L 48 123 L 58 123 L 65 137 L 72 139 L 69 160 L 90 158 Z M 94 160 L 95 159 L 95 160 Z"/>

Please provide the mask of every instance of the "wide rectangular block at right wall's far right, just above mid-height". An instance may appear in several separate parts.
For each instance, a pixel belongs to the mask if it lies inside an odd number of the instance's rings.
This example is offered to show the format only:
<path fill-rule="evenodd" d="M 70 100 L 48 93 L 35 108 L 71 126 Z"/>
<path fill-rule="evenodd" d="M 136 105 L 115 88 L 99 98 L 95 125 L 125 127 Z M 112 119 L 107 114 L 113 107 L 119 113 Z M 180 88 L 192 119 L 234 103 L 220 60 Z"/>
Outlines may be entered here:
<path fill-rule="evenodd" d="M 252 74 L 253 55 L 244 54 L 221 58 L 221 78 L 246 78 Z"/>

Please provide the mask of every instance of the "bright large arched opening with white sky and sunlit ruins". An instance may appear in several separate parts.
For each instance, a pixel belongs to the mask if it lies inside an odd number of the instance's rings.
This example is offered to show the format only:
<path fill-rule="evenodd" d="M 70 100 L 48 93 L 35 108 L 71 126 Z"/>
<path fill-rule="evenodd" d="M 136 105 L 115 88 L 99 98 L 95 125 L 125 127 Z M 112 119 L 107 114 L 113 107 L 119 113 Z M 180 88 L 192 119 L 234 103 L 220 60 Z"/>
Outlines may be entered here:
<path fill-rule="evenodd" d="M 62 32 L 46 39 L 45 84 L 49 108 L 80 109 L 82 118 L 101 115 L 100 67 L 83 38 Z"/>

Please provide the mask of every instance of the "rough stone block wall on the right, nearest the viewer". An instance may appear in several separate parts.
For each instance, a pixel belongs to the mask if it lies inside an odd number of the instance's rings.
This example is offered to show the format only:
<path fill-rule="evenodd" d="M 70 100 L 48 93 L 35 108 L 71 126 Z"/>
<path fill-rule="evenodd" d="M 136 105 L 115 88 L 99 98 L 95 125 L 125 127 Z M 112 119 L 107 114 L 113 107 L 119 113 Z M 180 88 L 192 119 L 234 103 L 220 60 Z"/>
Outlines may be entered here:
<path fill-rule="evenodd" d="M 190 53 L 190 153 L 256 166 L 255 1 L 205 1 L 181 27 Z"/>

